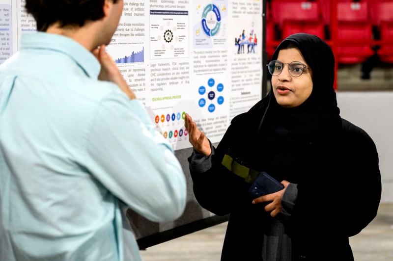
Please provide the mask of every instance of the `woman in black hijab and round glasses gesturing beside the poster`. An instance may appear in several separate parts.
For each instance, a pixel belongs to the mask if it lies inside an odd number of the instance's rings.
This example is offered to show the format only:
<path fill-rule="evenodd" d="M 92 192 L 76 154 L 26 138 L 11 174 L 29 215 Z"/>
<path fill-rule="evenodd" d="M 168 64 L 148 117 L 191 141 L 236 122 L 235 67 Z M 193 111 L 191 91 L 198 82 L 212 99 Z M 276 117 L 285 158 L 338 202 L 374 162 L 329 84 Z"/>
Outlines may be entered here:
<path fill-rule="evenodd" d="M 222 260 L 353 260 L 348 237 L 375 217 L 381 197 L 375 145 L 339 116 L 324 41 L 291 35 L 272 60 L 269 94 L 232 120 L 217 149 L 186 115 L 197 201 L 230 214 Z M 254 199 L 260 171 L 284 189 Z"/>

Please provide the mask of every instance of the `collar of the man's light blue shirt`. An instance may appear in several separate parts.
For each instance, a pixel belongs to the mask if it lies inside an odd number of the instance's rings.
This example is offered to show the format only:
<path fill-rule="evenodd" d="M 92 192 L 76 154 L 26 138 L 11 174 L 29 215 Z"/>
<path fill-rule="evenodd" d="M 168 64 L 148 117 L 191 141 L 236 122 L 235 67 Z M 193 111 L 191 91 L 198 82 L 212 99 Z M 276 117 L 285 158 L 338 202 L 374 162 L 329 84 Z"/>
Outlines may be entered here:
<path fill-rule="evenodd" d="M 47 49 L 62 52 L 73 59 L 90 78 L 98 78 L 101 65 L 84 46 L 71 38 L 45 32 L 22 33 L 20 50 Z"/>

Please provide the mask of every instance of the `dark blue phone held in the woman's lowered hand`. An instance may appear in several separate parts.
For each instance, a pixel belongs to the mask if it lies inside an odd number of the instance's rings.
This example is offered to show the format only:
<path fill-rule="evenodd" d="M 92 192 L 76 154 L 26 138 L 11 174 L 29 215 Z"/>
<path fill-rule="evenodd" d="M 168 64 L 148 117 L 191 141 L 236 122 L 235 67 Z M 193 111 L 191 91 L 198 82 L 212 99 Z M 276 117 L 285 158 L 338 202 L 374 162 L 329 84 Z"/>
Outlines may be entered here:
<path fill-rule="evenodd" d="M 284 185 L 275 180 L 272 176 L 262 171 L 256 178 L 249 192 L 256 198 L 280 191 Z"/>

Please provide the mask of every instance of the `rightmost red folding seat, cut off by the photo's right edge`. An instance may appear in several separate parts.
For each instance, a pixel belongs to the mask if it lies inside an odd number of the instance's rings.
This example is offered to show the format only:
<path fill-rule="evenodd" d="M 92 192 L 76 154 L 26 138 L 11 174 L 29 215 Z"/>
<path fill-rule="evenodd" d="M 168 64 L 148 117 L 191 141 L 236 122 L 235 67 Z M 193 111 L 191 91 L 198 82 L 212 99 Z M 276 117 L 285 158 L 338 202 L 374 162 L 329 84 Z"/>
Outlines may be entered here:
<path fill-rule="evenodd" d="M 371 1 L 370 15 L 372 24 L 377 26 L 380 40 L 393 40 L 393 1 Z M 381 61 L 393 63 L 393 43 L 381 44 L 377 52 Z"/>

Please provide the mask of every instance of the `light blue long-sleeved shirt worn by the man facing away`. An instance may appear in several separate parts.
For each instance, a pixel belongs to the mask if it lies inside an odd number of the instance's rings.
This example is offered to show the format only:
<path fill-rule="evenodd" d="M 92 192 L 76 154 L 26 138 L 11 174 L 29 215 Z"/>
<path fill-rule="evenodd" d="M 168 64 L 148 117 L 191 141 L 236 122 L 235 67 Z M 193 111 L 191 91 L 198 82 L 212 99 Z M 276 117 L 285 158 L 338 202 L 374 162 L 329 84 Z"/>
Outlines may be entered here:
<path fill-rule="evenodd" d="M 42 32 L 0 66 L 0 260 L 138 261 L 120 205 L 155 222 L 183 212 L 171 146 L 99 71 L 82 45 Z"/>

